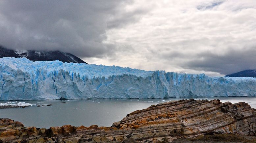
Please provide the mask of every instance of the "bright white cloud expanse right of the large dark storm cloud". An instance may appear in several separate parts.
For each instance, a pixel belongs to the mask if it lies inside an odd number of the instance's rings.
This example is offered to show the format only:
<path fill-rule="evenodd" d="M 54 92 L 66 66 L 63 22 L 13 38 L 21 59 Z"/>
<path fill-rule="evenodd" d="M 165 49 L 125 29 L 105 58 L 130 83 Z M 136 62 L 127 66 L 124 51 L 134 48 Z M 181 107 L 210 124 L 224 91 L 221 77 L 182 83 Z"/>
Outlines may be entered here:
<path fill-rule="evenodd" d="M 140 0 L 132 6 L 149 11 L 107 30 L 104 42 L 116 46 L 115 55 L 87 62 L 211 76 L 256 68 L 255 56 L 244 57 L 256 54 L 255 1 Z"/>

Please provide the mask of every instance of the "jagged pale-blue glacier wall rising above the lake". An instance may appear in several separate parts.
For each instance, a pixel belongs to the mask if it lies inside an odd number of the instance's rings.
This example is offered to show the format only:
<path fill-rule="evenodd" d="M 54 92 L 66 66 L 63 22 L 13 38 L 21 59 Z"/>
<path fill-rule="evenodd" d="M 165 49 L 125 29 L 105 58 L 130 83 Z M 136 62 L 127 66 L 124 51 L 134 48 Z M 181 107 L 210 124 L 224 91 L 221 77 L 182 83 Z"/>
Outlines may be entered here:
<path fill-rule="evenodd" d="M 0 58 L 0 100 L 256 96 L 256 78 Z"/>

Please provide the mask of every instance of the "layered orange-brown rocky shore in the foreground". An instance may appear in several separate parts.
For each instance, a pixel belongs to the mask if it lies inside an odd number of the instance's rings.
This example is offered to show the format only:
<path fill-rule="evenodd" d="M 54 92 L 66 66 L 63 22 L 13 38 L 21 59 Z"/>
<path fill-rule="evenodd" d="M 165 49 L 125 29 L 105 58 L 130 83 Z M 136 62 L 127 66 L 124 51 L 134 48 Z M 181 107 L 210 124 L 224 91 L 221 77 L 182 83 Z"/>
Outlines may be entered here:
<path fill-rule="evenodd" d="M 219 100 L 190 99 L 152 105 L 128 114 L 112 127 L 65 125 L 39 129 L 0 119 L 0 142 L 205 142 L 211 137 L 253 142 L 255 134 L 255 109 L 244 102 Z"/>

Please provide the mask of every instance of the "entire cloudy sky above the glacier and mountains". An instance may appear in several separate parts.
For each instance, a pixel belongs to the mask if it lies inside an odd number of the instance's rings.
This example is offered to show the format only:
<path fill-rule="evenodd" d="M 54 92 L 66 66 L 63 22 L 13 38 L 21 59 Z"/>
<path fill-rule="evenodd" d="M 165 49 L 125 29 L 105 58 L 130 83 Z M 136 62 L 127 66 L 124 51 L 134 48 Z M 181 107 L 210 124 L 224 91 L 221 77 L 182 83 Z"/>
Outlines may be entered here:
<path fill-rule="evenodd" d="M 209 76 L 256 69 L 255 0 L 1 0 L 0 19 L 9 49 Z"/>

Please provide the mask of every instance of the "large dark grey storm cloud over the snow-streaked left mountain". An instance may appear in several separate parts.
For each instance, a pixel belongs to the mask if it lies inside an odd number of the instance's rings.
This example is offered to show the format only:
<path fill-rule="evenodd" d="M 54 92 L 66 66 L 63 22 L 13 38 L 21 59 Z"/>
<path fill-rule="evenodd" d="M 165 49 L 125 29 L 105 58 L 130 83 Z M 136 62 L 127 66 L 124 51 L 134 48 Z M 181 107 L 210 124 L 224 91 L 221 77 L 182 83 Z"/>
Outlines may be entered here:
<path fill-rule="evenodd" d="M 3 0 L 0 1 L 0 45 L 20 50 L 61 50 L 80 57 L 111 54 L 115 45 L 103 43 L 107 27 L 136 20 L 140 10 L 127 13 L 123 10 L 132 3 Z M 123 17 L 128 18 L 124 21 Z"/>

